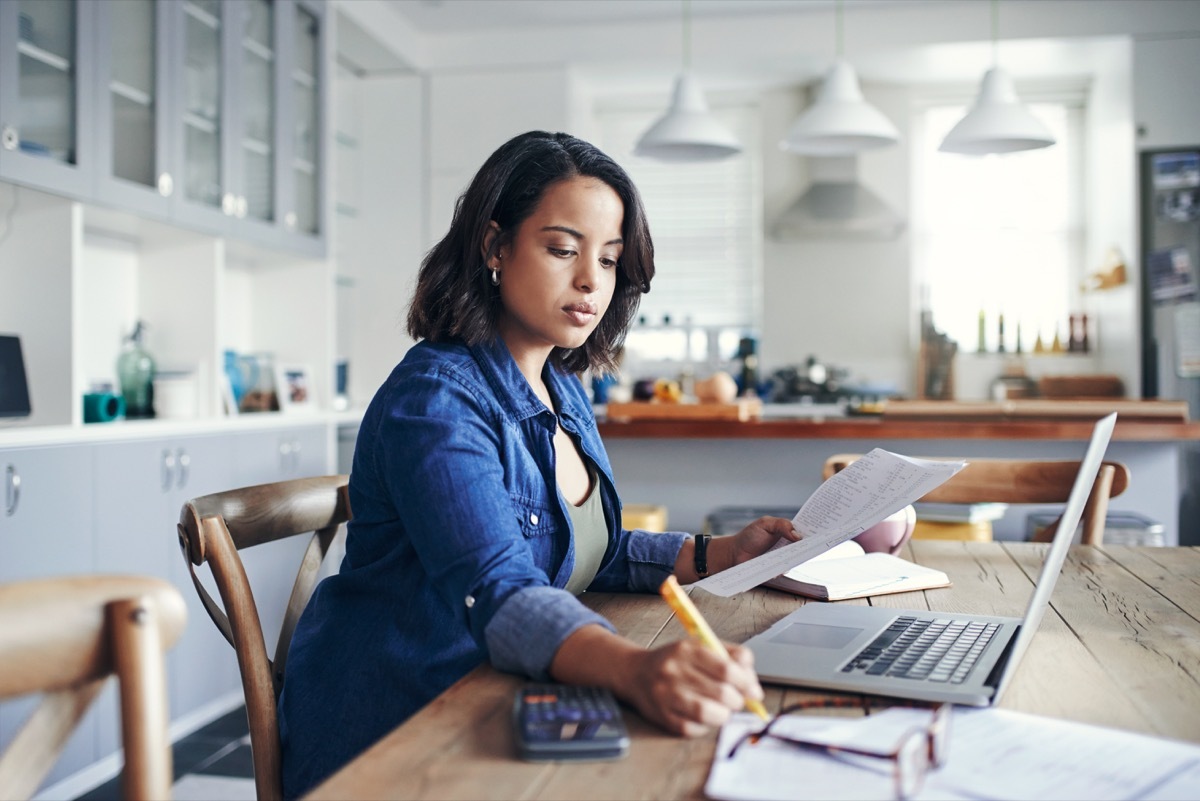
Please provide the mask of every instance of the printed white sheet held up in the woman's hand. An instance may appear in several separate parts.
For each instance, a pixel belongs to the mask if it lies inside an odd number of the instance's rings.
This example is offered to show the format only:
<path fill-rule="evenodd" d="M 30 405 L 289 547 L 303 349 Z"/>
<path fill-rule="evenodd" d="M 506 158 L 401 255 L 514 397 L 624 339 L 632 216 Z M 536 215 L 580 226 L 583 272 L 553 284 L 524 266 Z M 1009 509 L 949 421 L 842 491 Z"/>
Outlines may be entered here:
<path fill-rule="evenodd" d="M 714 573 L 696 586 L 722 597 L 745 592 L 858 536 L 964 466 L 966 462 L 914 459 L 877 447 L 830 476 L 804 501 L 792 518 L 803 540 Z"/>

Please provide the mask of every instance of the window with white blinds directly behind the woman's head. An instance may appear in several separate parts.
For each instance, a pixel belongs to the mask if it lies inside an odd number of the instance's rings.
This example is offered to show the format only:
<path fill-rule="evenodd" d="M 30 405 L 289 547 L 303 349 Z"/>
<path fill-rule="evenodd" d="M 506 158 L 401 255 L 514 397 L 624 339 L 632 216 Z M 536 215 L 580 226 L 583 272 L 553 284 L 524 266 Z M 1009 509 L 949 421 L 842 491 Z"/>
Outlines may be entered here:
<path fill-rule="evenodd" d="M 714 109 L 745 150 L 732 158 L 666 164 L 632 155 L 637 138 L 662 113 L 613 108 L 598 113 L 596 143 L 634 179 L 654 237 L 658 272 L 642 296 L 626 360 L 733 359 L 742 336 L 757 330 L 762 285 L 762 181 L 758 113 Z M 691 329 L 690 347 L 684 336 Z"/>

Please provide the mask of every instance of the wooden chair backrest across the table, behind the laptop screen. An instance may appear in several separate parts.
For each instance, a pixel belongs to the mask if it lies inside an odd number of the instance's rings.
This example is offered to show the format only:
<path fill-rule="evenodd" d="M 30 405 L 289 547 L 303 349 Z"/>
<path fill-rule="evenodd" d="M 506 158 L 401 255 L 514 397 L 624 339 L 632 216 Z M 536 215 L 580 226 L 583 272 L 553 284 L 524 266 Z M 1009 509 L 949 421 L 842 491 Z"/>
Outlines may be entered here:
<path fill-rule="evenodd" d="M 859 458 L 859 453 L 838 453 L 826 459 L 826 478 Z M 936 457 L 932 457 L 936 458 Z M 936 487 L 923 501 L 938 504 L 1066 504 L 1079 472 L 1078 460 L 1050 459 L 968 459 L 967 466 Z M 1104 522 L 1109 499 L 1129 486 L 1129 468 L 1120 462 L 1104 462 L 1084 507 L 1081 542 L 1104 542 Z M 1054 537 L 1057 520 L 1040 531 L 1039 542 Z"/>

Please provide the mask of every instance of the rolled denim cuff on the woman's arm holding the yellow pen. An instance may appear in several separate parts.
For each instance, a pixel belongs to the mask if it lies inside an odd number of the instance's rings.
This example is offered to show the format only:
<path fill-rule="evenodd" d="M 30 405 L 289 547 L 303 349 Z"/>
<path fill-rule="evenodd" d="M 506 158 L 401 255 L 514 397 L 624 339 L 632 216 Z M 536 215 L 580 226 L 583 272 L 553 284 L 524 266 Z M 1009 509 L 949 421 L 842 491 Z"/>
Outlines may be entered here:
<path fill-rule="evenodd" d="M 616 631 L 566 590 L 530 586 L 505 598 L 484 636 L 494 668 L 546 681 L 563 642 L 590 624 Z"/>

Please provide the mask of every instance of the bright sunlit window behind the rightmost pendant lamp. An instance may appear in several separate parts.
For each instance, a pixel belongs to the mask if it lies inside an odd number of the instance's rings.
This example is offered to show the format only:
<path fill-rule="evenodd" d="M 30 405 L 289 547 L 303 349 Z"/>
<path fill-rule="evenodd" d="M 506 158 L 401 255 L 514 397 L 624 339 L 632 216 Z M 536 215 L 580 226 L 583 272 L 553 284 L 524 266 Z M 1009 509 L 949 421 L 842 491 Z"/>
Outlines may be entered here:
<path fill-rule="evenodd" d="M 930 104 L 914 114 L 913 275 L 934 324 L 979 347 L 985 315 L 989 351 L 1066 345 L 1068 314 L 1080 303 L 1084 273 L 1082 97 L 1028 103 L 1057 143 L 982 158 L 941 153 L 942 138 L 966 106 Z"/>

